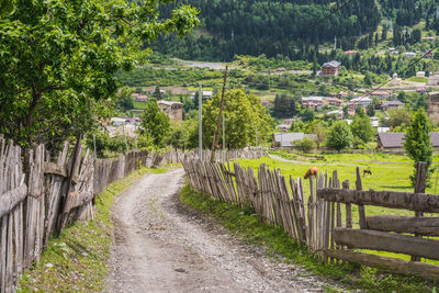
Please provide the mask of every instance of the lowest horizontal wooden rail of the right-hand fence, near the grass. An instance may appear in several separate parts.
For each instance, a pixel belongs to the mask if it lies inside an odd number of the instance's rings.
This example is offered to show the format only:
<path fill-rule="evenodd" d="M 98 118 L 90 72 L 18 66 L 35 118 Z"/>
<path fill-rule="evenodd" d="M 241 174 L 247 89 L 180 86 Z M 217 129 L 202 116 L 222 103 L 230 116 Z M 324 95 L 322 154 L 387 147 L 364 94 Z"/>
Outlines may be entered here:
<path fill-rule="evenodd" d="M 401 274 L 416 274 L 427 280 L 439 281 L 439 266 L 418 261 L 405 261 L 350 250 L 328 250 L 327 256 L 362 266 L 381 268 Z"/>

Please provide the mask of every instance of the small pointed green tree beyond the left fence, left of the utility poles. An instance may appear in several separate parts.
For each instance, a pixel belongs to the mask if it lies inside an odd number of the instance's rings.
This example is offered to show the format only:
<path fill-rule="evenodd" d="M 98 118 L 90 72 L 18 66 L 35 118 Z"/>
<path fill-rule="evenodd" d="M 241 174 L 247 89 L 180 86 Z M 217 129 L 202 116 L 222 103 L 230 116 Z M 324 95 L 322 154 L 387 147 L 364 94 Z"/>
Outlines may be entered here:
<path fill-rule="evenodd" d="M 160 110 L 155 98 L 148 99 L 140 124 L 143 126 L 142 135 L 150 138 L 154 145 L 162 147 L 169 132 L 170 119 Z"/>

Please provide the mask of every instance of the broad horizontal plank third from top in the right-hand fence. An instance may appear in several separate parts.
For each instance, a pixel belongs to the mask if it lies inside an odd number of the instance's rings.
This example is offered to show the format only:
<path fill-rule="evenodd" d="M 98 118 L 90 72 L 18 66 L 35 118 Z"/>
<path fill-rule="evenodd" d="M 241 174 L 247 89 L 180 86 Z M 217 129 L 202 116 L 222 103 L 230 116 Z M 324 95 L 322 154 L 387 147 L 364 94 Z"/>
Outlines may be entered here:
<path fill-rule="evenodd" d="M 337 244 L 439 260 L 439 241 L 379 230 L 335 228 Z"/>

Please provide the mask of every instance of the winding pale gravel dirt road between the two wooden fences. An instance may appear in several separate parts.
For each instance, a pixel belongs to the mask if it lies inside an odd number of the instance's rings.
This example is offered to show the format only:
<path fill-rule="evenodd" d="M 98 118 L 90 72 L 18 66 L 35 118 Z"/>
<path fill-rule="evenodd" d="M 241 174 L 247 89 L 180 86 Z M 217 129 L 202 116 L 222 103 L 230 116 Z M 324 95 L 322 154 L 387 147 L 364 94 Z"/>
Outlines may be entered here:
<path fill-rule="evenodd" d="M 320 292 L 301 268 L 267 259 L 183 206 L 183 171 L 148 174 L 116 198 L 110 292 Z"/>

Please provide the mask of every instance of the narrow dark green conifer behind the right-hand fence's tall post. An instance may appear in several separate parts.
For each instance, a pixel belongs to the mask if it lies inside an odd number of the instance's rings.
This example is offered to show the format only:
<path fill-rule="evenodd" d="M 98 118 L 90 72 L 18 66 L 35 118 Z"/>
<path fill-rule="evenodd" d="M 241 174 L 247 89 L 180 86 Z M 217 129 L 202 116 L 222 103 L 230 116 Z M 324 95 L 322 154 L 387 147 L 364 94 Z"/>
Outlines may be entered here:
<path fill-rule="evenodd" d="M 404 148 L 407 151 L 408 157 L 410 157 L 415 164 L 418 161 L 426 162 L 428 170 L 427 173 L 429 173 L 429 167 L 431 166 L 434 155 L 430 131 L 431 125 L 428 121 L 427 114 L 423 109 L 419 109 L 415 113 L 412 124 L 406 129 L 404 136 Z M 413 182 L 415 176 L 412 178 Z"/>

